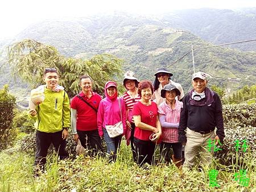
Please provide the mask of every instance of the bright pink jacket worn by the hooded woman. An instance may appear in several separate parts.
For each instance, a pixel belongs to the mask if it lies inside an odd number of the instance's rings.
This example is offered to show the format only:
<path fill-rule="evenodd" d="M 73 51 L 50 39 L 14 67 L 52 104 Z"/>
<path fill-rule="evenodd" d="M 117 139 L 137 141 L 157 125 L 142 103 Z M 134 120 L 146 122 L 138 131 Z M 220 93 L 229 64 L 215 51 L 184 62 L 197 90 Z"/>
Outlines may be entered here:
<path fill-rule="evenodd" d="M 105 91 L 106 95 L 106 91 Z M 120 104 L 122 108 L 122 119 L 120 114 L 120 108 L 118 104 L 118 100 L 120 99 Z M 123 123 L 123 135 L 126 133 L 126 108 L 125 102 L 123 98 L 117 98 L 113 102 L 108 98 L 102 99 L 100 102 L 100 106 L 98 107 L 98 114 L 97 114 L 97 124 L 98 124 L 98 134 L 103 136 L 102 128 L 105 128 L 106 125 L 114 125 L 122 120 Z"/>

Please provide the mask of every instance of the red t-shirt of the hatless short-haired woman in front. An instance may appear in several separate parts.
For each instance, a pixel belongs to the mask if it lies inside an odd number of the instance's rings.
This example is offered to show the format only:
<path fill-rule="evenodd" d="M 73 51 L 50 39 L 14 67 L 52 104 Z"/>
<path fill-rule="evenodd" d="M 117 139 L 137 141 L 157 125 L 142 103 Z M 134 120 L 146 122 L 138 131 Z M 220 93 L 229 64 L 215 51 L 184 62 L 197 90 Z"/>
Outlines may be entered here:
<path fill-rule="evenodd" d="M 141 122 L 150 126 L 156 127 L 156 116 L 158 116 L 158 106 L 155 102 L 151 102 L 151 105 L 143 105 L 140 101 L 134 103 L 133 115 L 141 116 Z M 142 130 L 139 127 L 135 127 L 134 137 L 137 139 L 150 141 L 150 135 L 152 131 Z"/>

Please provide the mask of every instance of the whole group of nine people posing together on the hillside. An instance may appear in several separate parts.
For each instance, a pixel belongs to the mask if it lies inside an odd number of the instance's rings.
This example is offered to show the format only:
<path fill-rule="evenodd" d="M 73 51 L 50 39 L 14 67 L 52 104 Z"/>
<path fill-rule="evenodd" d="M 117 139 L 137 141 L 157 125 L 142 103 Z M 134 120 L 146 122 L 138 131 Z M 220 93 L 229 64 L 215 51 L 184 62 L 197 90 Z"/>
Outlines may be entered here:
<path fill-rule="evenodd" d="M 184 166 L 192 168 L 199 153 L 200 160 L 210 164 L 213 150 L 207 150 L 208 141 L 221 144 L 225 133 L 221 101 L 218 94 L 207 87 L 207 75 L 193 74 L 193 89 L 185 96 L 181 85 L 171 80 L 172 73 L 166 68 L 159 68 L 154 75 L 152 84 L 148 80 L 139 81 L 134 72 L 128 71 L 123 79 L 127 91 L 122 97 L 118 97 L 117 83 L 108 81 L 104 99 L 92 91 L 92 78 L 81 76 L 81 92 L 69 105 L 67 93 L 58 85 L 57 70 L 45 69 L 46 85 L 31 91 L 29 111 L 31 118 L 36 119 L 36 172 L 44 169 L 51 143 L 60 159 L 68 157 L 65 139 L 70 124 L 73 139 L 90 149 L 93 156 L 104 154 L 101 143 L 104 138 L 109 161 L 116 160 L 125 136 L 138 165 L 154 162 L 157 144 L 160 144 L 161 160 L 172 160 L 179 168 L 184 146 Z M 121 132 L 113 136 L 113 128 Z"/>

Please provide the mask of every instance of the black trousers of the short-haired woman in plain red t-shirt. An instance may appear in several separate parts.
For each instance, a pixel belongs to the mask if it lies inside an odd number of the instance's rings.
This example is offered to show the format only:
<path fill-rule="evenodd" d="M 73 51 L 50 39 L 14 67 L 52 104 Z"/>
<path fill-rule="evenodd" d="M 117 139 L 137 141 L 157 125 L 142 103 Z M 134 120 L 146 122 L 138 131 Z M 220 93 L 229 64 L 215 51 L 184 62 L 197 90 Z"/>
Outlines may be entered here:
<path fill-rule="evenodd" d="M 134 137 L 134 146 L 136 152 L 136 162 L 138 165 L 143 165 L 144 163 L 152 164 L 153 155 L 155 152 L 156 143 L 152 141 L 144 141 Z"/>

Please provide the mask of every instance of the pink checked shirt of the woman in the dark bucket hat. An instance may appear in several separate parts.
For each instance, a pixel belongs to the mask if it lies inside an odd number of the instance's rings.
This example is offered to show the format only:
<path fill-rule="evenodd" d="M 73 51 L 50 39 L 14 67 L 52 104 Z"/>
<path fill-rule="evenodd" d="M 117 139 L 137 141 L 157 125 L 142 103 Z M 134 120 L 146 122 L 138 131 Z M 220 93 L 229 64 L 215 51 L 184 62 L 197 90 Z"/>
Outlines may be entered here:
<path fill-rule="evenodd" d="M 181 107 L 183 107 L 183 103 L 180 101 L 175 102 L 174 109 L 168 106 L 166 102 L 163 102 L 158 107 L 158 112 L 159 114 L 166 116 L 166 122 L 179 123 Z M 177 143 L 178 142 L 177 128 L 162 127 L 162 141 L 167 143 Z"/>

